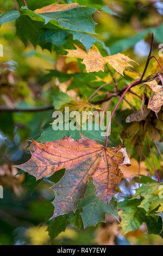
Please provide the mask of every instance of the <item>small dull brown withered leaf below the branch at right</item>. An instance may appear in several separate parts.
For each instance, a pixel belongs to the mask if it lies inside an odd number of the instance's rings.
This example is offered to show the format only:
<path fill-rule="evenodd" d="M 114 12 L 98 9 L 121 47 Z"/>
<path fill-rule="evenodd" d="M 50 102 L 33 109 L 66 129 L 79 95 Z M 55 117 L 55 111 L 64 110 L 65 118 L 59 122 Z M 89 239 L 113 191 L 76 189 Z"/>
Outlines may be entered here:
<path fill-rule="evenodd" d="M 133 114 L 128 115 L 126 118 L 126 123 L 130 123 L 133 121 L 140 122 L 142 120 L 146 120 L 147 115 L 151 112 L 146 106 L 143 107 L 143 114 L 142 109 L 135 111 Z"/>

